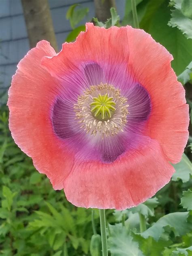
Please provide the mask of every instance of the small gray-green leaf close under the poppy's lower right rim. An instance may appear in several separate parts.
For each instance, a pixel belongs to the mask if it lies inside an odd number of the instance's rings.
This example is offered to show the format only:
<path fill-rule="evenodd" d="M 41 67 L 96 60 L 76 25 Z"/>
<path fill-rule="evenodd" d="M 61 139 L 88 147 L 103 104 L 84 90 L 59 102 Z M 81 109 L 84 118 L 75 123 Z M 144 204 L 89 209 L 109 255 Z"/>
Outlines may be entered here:
<path fill-rule="evenodd" d="M 156 197 L 149 198 L 145 203 L 141 203 L 140 205 L 129 209 L 132 213 L 141 213 L 145 217 L 154 216 L 154 208 L 158 205 L 158 199 Z"/>

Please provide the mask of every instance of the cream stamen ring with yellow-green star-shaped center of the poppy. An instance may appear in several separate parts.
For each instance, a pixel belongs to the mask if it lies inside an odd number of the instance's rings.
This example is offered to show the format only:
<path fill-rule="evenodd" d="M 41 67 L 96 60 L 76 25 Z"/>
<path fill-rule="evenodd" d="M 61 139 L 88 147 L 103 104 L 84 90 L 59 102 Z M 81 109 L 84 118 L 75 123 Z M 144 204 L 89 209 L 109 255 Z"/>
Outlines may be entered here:
<path fill-rule="evenodd" d="M 121 96 L 119 89 L 100 83 L 90 86 L 78 97 L 74 111 L 81 129 L 94 136 L 100 133 L 103 138 L 124 131 L 129 106 L 126 103 L 127 98 Z M 107 107 L 103 108 L 104 105 Z"/>

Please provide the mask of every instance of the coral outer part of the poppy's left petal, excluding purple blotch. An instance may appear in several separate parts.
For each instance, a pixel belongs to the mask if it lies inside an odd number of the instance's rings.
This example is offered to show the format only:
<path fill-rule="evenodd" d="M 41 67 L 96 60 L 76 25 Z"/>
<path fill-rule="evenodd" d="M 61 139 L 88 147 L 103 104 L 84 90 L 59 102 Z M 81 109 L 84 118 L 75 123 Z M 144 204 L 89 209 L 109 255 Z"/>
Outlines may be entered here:
<path fill-rule="evenodd" d="M 49 177 L 53 188 L 62 189 L 72 169 L 73 153 L 61 143 L 51 124 L 51 108 L 61 85 L 41 67 L 41 59 L 53 55 L 50 44 L 41 41 L 19 62 L 9 89 L 9 128 L 36 169 Z"/>

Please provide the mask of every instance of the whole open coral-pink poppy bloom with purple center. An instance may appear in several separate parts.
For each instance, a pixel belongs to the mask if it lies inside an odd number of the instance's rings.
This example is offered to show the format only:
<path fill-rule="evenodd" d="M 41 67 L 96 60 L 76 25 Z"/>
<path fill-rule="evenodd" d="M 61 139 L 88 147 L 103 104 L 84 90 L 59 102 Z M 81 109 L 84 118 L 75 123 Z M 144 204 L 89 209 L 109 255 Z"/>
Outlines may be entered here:
<path fill-rule="evenodd" d="M 188 139 L 188 105 L 171 60 L 130 26 L 87 23 L 57 54 L 39 42 L 9 89 L 15 143 L 74 205 L 138 205 L 169 182 Z"/>

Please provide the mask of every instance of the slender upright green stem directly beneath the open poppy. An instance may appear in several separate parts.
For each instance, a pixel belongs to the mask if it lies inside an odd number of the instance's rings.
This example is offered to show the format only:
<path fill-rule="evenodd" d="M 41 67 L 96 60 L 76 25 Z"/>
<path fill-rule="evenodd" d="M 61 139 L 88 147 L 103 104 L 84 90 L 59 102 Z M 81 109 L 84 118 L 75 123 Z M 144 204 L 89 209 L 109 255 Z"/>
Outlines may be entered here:
<path fill-rule="evenodd" d="M 100 215 L 100 227 L 101 227 L 102 256 L 108 256 L 105 209 L 99 209 L 99 215 Z"/>

